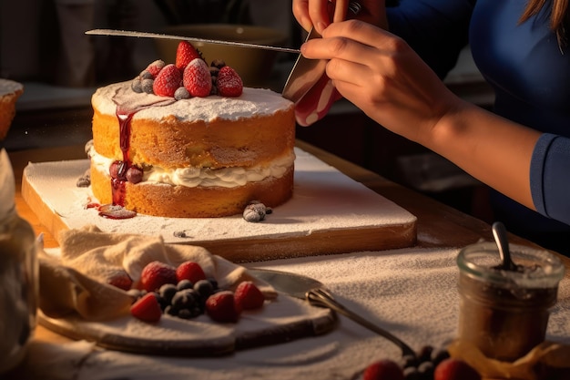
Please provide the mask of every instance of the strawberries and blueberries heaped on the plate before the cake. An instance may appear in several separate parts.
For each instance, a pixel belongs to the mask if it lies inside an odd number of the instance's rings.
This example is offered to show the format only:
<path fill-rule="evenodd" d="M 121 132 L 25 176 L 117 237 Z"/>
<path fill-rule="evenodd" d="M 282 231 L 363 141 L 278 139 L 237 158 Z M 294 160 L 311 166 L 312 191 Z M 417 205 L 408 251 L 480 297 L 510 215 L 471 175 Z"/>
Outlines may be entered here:
<path fill-rule="evenodd" d="M 120 272 L 108 283 L 131 294 L 135 302 L 130 313 L 137 319 L 156 323 L 163 313 L 183 319 L 207 313 L 217 322 L 238 322 L 243 310 L 258 309 L 265 296 L 253 282 L 240 282 L 234 292 L 220 289 L 197 262 L 183 262 L 174 267 L 164 262 L 149 262 L 143 268 L 139 286 L 127 272 Z"/>

